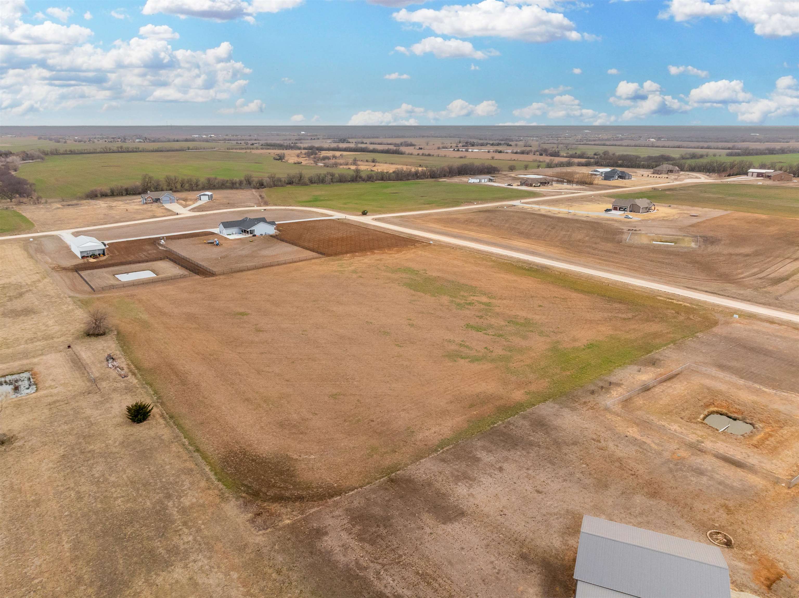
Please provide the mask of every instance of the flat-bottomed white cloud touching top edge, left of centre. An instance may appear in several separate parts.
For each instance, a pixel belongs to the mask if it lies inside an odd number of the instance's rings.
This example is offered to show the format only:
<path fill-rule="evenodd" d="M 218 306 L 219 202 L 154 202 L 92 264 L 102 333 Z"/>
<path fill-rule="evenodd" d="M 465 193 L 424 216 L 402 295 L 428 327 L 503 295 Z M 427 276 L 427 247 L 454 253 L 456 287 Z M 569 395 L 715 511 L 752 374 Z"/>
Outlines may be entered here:
<path fill-rule="evenodd" d="M 254 22 L 256 14 L 276 13 L 302 4 L 303 0 L 147 0 L 142 14 L 173 14 L 176 17 Z"/>

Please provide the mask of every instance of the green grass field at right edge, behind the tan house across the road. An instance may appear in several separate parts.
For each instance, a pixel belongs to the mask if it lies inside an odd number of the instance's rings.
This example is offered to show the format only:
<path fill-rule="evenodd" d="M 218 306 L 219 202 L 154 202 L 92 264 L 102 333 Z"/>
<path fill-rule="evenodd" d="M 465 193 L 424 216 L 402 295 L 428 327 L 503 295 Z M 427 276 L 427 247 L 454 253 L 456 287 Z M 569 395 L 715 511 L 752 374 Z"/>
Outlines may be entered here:
<path fill-rule="evenodd" d="M 799 189 L 752 184 L 695 184 L 688 187 L 615 193 L 613 197 L 646 197 L 655 204 L 678 204 L 735 212 L 799 218 Z"/>

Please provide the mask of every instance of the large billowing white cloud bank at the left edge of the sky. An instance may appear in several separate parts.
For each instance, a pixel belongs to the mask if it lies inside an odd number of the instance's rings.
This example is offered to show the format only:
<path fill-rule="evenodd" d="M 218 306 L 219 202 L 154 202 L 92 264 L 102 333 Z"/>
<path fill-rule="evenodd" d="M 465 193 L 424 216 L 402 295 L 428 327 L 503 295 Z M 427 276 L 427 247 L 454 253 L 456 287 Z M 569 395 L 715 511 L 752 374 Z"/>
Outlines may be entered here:
<path fill-rule="evenodd" d="M 2 114 L 130 101 L 218 101 L 240 97 L 248 82 L 250 69 L 233 60 L 228 42 L 175 50 L 166 39 L 136 37 L 101 47 L 89 42 L 92 35 L 78 25 L 4 20 Z"/>

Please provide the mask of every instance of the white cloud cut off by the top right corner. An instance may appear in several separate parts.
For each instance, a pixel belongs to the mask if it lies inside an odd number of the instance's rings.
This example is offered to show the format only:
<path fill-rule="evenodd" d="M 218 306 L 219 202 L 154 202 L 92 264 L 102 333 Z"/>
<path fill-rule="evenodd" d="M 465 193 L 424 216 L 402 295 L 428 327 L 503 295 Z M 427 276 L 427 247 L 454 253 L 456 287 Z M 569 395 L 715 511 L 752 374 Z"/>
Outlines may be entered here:
<path fill-rule="evenodd" d="M 755 34 L 764 38 L 799 34 L 797 0 L 670 0 L 658 16 L 686 22 L 705 17 L 727 20 L 732 15 L 753 25 Z"/>

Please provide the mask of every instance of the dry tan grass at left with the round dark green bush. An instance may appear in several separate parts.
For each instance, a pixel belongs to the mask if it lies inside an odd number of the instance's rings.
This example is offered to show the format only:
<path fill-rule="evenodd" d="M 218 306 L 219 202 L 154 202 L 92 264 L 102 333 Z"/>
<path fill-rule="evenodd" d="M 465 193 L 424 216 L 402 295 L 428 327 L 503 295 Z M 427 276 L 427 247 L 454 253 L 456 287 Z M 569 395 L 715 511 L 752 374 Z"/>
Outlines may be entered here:
<path fill-rule="evenodd" d="M 113 335 L 81 335 L 85 311 L 26 244 L 0 244 L 0 260 L 0 375 L 38 386 L 0 402 L 0 594 L 300 593 L 161 411 L 125 418 L 152 397 L 105 366 L 110 352 L 129 370 Z"/>

